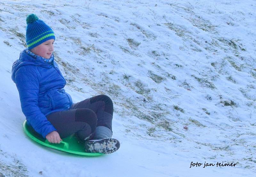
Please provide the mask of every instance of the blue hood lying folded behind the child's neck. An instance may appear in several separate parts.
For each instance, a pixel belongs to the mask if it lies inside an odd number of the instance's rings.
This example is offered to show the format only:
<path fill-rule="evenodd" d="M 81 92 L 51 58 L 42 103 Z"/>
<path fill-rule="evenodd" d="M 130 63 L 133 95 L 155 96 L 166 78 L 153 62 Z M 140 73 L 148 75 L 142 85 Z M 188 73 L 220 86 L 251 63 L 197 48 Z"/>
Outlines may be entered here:
<path fill-rule="evenodd" d="M 42 59 L 32 56 L 23 50 L 20 52 L 20 58 L 12 64 L 12 81 L 15 83 L 15 73 L 21 66 L 36 65 L 36 66 L 49 66 Z"/>

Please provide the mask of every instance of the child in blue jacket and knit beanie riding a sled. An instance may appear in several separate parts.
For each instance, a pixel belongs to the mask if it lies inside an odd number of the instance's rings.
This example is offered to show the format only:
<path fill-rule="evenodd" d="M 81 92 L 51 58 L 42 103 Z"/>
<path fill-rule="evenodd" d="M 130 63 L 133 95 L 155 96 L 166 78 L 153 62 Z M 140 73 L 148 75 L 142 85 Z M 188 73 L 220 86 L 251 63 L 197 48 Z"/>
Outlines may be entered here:
<path fill-rule="evenodd" d="M 76 104 L 65 92 L 66 81 L 52 54 L 55 35 L 35 14 L 28 15 L 28 48 L 12 65 L 12 80 L 20 95 L 28 125 L 51 143 L 76 134 L 85 152 L 112 153 L 120 143 L 112 137 L 113 103 L 106 95 Z"/>

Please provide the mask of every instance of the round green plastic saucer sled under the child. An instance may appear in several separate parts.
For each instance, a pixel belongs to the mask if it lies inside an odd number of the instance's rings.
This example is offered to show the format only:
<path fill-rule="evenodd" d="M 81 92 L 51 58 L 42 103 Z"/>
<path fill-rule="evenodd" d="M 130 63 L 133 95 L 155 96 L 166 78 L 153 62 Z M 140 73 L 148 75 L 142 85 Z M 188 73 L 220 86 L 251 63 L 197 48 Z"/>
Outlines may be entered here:
<path fill-rule="evenodd" d="M 73 154 L 79 154 L 83 156 L 100 156 L 101 153 L 88 153 L 84 152 L 84 147 L 82 142 L 78 142 L 78 139 L 76 136 L 70 135 L 67 138 L 62 138 L 63 141 L 60 141 L 60 144 L 58 143 L 50 143 L 47 139 L 44 139 L 40 134 L 38 134 L 31 126 L 28 126 L 27 120 L 23 123 L 23 130 L 28 135 L 29 138 L 32 140 L 53 148 L 57 150 L 62 150 L 65 152 L 73 153 Z"/>

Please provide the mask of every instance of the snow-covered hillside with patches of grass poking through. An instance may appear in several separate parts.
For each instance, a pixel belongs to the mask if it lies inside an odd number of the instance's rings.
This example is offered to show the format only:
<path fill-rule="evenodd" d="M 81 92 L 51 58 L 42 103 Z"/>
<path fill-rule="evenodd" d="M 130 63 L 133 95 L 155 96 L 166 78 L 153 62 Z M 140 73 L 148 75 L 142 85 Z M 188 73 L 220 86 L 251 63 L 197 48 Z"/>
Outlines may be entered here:
<path fill-rule="evenodd" d="M 55 33 L 73 102 L 113 100 L 117 152 L 72 155 L 23 133 L 11 68 L 30 13 Z M 255 29 L 255 0 L 1 0 L 0 176 L 255 176 Z"/>

